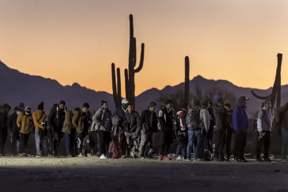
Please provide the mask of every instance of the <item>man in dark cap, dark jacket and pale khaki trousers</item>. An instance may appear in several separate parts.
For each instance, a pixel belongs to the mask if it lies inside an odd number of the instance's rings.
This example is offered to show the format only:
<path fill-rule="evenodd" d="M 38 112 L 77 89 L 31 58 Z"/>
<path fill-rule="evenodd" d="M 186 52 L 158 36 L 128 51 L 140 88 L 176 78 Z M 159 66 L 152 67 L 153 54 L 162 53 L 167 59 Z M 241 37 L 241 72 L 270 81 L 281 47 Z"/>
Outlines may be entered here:
<path fill-rule="evenodd" d="M 148 109 L 142 111 L 141 113 L 141 120 L 142 120 L 142 127 L 139 127 L 138 130 L 136 130 L 136 137 L 140 136 L 140 129 L 141 132 L 141 142 L 139 146 L 139 158 L 144 159 L 143 150 L 144 146 L 150 142 L 153 145 L 154 140 L 154 132 L 157 131 L 157 117 L 155 113 L 155 109 L 157 107 L 157 104 L 155 102 L 151 102 L 149 104 Z M 145 130 L 144 130 L 145 129 Z"/>

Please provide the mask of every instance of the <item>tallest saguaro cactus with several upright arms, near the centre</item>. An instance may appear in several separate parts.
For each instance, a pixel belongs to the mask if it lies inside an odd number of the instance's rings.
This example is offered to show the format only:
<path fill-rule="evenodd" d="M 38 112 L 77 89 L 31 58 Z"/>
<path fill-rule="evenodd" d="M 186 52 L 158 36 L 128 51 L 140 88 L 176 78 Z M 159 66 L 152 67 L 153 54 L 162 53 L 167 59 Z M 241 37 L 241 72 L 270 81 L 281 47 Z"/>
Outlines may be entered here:
<path fill-rule="evenodd" d="M 130 14 L 129 19 L 130 19 L 129 63 L 128 63 L 128 69 L 125 69 L 125 93 L 126 93 L 127 100 L 135 107 L 135 73 L 138 73 L 143 67 L 144 43 L 141 44 L 141 56 L 140 56 L 139 66 L 138 68 L 135 69 L 136 67 L 136 38 L 134 37 L 132 14 Z M 117 74 L 118 74 L 118 69 L 117 69 Z M 115 66 L 114 66 L 114 76 L 115 76 Z M 119 74 L 119 78 L 120 78 L 120 74 Z M 116 78 L 114 77 L 114 79 Z M 113 83 L 113 63 L 112 63 L 112 88 L 113 88 L 114 102 L 117 107 L 118 101 L 115 100 L 115 98 L 117 98 L 117 92 L 114 86 L 116 86 L 116 80 Z M 118 98 L 119 98 L 119 93 L 121 96 L 121 89 L 120 89 L 120 92 L 118 89 Z M 120 101 L 120 105 L 121 105 L 121 101 Z"/>

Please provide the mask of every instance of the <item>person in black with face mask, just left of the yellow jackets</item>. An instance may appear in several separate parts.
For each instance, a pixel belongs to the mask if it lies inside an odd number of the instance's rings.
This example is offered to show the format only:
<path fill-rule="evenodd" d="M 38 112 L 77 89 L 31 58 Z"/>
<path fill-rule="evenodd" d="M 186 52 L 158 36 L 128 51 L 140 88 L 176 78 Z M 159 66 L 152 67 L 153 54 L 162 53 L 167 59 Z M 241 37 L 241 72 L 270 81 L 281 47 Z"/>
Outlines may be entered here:
<path fill-rule="evenodd" d="M 19 129 L 17 127 L 17 116 L 19 113 L 19 107 L 15 107 L 14 113 L 9 116 L 7 121 L 8 136 L 12 142 L 12 156 L 17 156 L 19 152 Z"/>

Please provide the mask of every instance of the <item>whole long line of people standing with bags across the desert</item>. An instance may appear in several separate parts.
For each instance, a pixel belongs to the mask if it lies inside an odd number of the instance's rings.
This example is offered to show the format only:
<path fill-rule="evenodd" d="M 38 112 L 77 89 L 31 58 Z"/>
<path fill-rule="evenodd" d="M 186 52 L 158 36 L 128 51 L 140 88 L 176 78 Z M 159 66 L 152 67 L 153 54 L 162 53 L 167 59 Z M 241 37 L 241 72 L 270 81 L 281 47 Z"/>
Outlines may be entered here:
<path fill-rule="evenodd" d="M 208 150 L 213 153 L 214 161 L 229 161 L 231 155 L 235 162 L 248 162 L 244 157 L 244 149 L 249 129 L 246 101 L 241 96 L 238 105 L 232 110 L 230 104 L 219 95 L 214 96 L 215 107 L 209 100 L 193 100 L 190 109 L 188 103 L 182 104 L 182 109 L 174 114 L 173 101 L 165 101 L 165 106 L 156 116 L 157 104 L 151 102 L 148 109 L 141 115 L 134 110 L 127 99 L 122 100 L 122 106 L 112 114 L 108 103 L 101 101 L 99 110 L 91 116 L 89 104 L 84 103 L 82 108 L 66 111 L 65 101 L 54 104 L 49 115 L 44 111 L 44 103 L 38 105 L 37 110 L 31 113 L 29 106 L 20 103 L 14 108 L 14 113 L 8 115 L 11 107 L 8 104 L 0 106 L 0 156 L 4 154 L 7 136 L 12 142 L 12 155 L 25 156 L 31 128 L 35 127 L 36 157 L 42 157 L 42 140 L 49 135 L 53 141 L 54 157 L 58 153 L 60 140 L 63 138 L 67 157 L 85 157 L 88 151 L 83 147 L 83 140 L 90 134 L 97 140 L 97 155 L 106 159 L 111 135 L 118 137 L 122 148 L 122 157 L 130 157 L 133 147 L 139 152 L 138 158 L 144 158 L 144 147 L 150 142 L 153 145 L 154 133 L 160 131 L 159 160 L 170 160 L 169 148 L 177 140 L 176 160 L 203 161 L 205 143 Z M 273 116 L 271 101 L 266 100 L 263 109 L 257 118 L 257 150 L 258 162 L 270 162 L 268 156 Z M 282 135 L 282 161 L 287 160 L 288 149 L 288 103 L 275 110 L 275 123 Z M 175 124 L 178 129 L 175 129 Z M 112 134 L 111 134 L 112 133 Z M 231 152 L 231 142 L 234 135 L 234 151 Z M 215 145 L 215 147 L 213 147 Z M 226 151 L 224 148 L 226 145 Z M 261 159 L 261 147 L 264 145 L 264 160 Z M 226 153 L 226 157 L 224 156 Z M 46 154 L 52 156 L 51 154 Z"/>

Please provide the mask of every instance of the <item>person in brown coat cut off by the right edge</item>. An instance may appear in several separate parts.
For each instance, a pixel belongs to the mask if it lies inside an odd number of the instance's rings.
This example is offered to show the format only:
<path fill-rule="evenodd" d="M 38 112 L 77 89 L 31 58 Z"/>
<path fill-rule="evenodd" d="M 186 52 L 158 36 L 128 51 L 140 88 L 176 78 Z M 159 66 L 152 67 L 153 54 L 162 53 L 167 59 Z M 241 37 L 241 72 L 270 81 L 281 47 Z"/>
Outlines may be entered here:
<path fill-rule="evenodd" d="M 282 137 L 282 162 L 288 163 L 288 103 L 275 110 L 276 128 Z"/>

